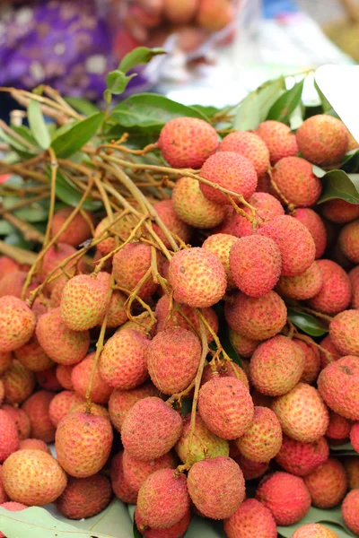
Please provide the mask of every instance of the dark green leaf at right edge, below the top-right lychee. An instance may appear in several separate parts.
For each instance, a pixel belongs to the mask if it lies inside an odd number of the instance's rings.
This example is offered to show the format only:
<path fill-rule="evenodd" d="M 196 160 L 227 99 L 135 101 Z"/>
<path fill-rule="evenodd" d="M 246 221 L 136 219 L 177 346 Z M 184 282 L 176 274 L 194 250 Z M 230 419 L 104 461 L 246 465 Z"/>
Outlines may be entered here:
<path fill-rule="evenodd" d="M 340 198 L 349 204 L 359 204 L 359 174 L 346 174 L 344 170 L 331 170 L 322 178 L 323 192 L 317 204 Z"/>

